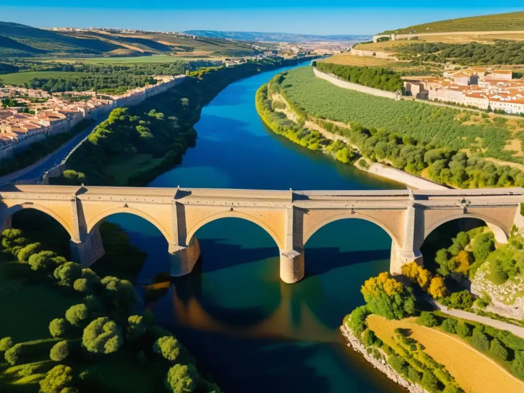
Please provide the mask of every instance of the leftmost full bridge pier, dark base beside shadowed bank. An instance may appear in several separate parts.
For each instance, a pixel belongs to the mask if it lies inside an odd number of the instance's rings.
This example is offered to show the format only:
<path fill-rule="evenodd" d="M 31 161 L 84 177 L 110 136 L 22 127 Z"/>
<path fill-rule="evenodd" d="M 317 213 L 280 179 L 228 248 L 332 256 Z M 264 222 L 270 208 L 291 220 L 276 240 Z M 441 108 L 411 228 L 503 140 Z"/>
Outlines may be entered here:
<path fill-rule="evenodd" d="M 83 267 L 94 264 L 105 255 L 99 226 L 95 225 L 90 233 L 87 231 L 82 204 L 75 196 L 71 198 L 73 235 L 69 241 L 71 259 Z"/>

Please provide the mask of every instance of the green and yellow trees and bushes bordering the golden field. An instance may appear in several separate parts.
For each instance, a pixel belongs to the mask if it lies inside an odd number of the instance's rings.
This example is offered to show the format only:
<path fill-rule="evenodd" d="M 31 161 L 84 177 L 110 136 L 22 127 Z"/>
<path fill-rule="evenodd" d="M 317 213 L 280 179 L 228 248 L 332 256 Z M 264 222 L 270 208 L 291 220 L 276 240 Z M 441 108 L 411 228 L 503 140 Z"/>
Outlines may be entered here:
<path fill-rule="evenodd" d="M 417 271 L 416 267 L 417 265 L 413 263 L 411 269 L 406 268 L 406 273 L 409 275 L 410 271 Z M 412 274 L 410 276 L 413 278 Z M 415 281 L 419 278 L 427 281 L 424 283 L 428 285 L 427 277 L 422 272 L 422 276 L 416 277 Z M 366 280 L 361 291 L 366 305 L 356 308 L 347 315 L 344 325 L 366 347 L 368 354 L 376 359 L 384 359 L 398 375 L 411 383 L 431 393 L 463 391 L 445 365 L 435 362 L 424 351 L 425 347 L 410 337 L 410 329 L 396 329 L 394 337 L 388 340 L 391 345 L 388 345 L 369 328 L 367 323 L 369 315 L 380 315 L 388 320 L 419 315 L 416 323 L 459 335 L 477 351 L 493 358 L 508 372 L 524 380 L 524 339 L 480 323 L 443 318 L 439 313 L 420 311 L 419 307 L 422 303 L 414 295 L 414 291 L 391 278 L 387 272 Z"/>

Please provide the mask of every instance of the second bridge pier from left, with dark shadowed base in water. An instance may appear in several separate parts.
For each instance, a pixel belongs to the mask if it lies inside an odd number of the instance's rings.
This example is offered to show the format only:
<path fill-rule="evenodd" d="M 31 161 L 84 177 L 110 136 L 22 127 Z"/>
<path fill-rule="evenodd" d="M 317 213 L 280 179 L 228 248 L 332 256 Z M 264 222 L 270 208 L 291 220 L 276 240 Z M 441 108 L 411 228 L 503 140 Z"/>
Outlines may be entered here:
<path fill-rule="evenodd" d="M 176 196 L 175 196 L 176 198 Z M 169 241 L 169 274 L 172 277 L 185 276 L 193 270 L 200 258 L 200 245 L 195 235 L 185 244 L 185 212 L 184 206 L 177 204 L 173 199 L 171 203 L 171 232 L 172 241 Z"/>

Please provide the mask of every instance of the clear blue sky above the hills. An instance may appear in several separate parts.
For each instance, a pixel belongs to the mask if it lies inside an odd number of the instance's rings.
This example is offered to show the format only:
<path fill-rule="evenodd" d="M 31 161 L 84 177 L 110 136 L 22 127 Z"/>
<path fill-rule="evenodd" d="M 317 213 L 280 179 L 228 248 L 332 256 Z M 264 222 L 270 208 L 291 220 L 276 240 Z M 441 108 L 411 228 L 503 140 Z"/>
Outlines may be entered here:
<path fill-rule="evenodd" d="M 253 0 L 0 0 L 0 3 L 0 20 L 36 27 L 309 34 L 373 34 L 434 20 L 524 10 L 522 0 L 507 0 L 504 8 L 496 8 L 495 2 L 487 0 L 460 2 L 462 7 L 435 0 L 376 0 L 359 3 L 362 5 L 348 5 L 348 0 L 265 0 L 263 3 Z"/>

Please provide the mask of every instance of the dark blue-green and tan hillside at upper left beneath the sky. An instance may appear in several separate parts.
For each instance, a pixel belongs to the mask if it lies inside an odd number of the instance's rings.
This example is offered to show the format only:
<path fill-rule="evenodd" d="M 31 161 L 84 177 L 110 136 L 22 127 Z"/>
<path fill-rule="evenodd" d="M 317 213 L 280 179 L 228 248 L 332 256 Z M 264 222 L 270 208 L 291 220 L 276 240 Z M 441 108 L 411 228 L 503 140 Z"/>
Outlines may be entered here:
<path fill-rule="evenodd" d="M 0 22 L 0 58 L 61 56 L 241 57 L 257 53 L 250 43 L 167 34 L 125 34 L 108 31 L 51 31 Z"/>

